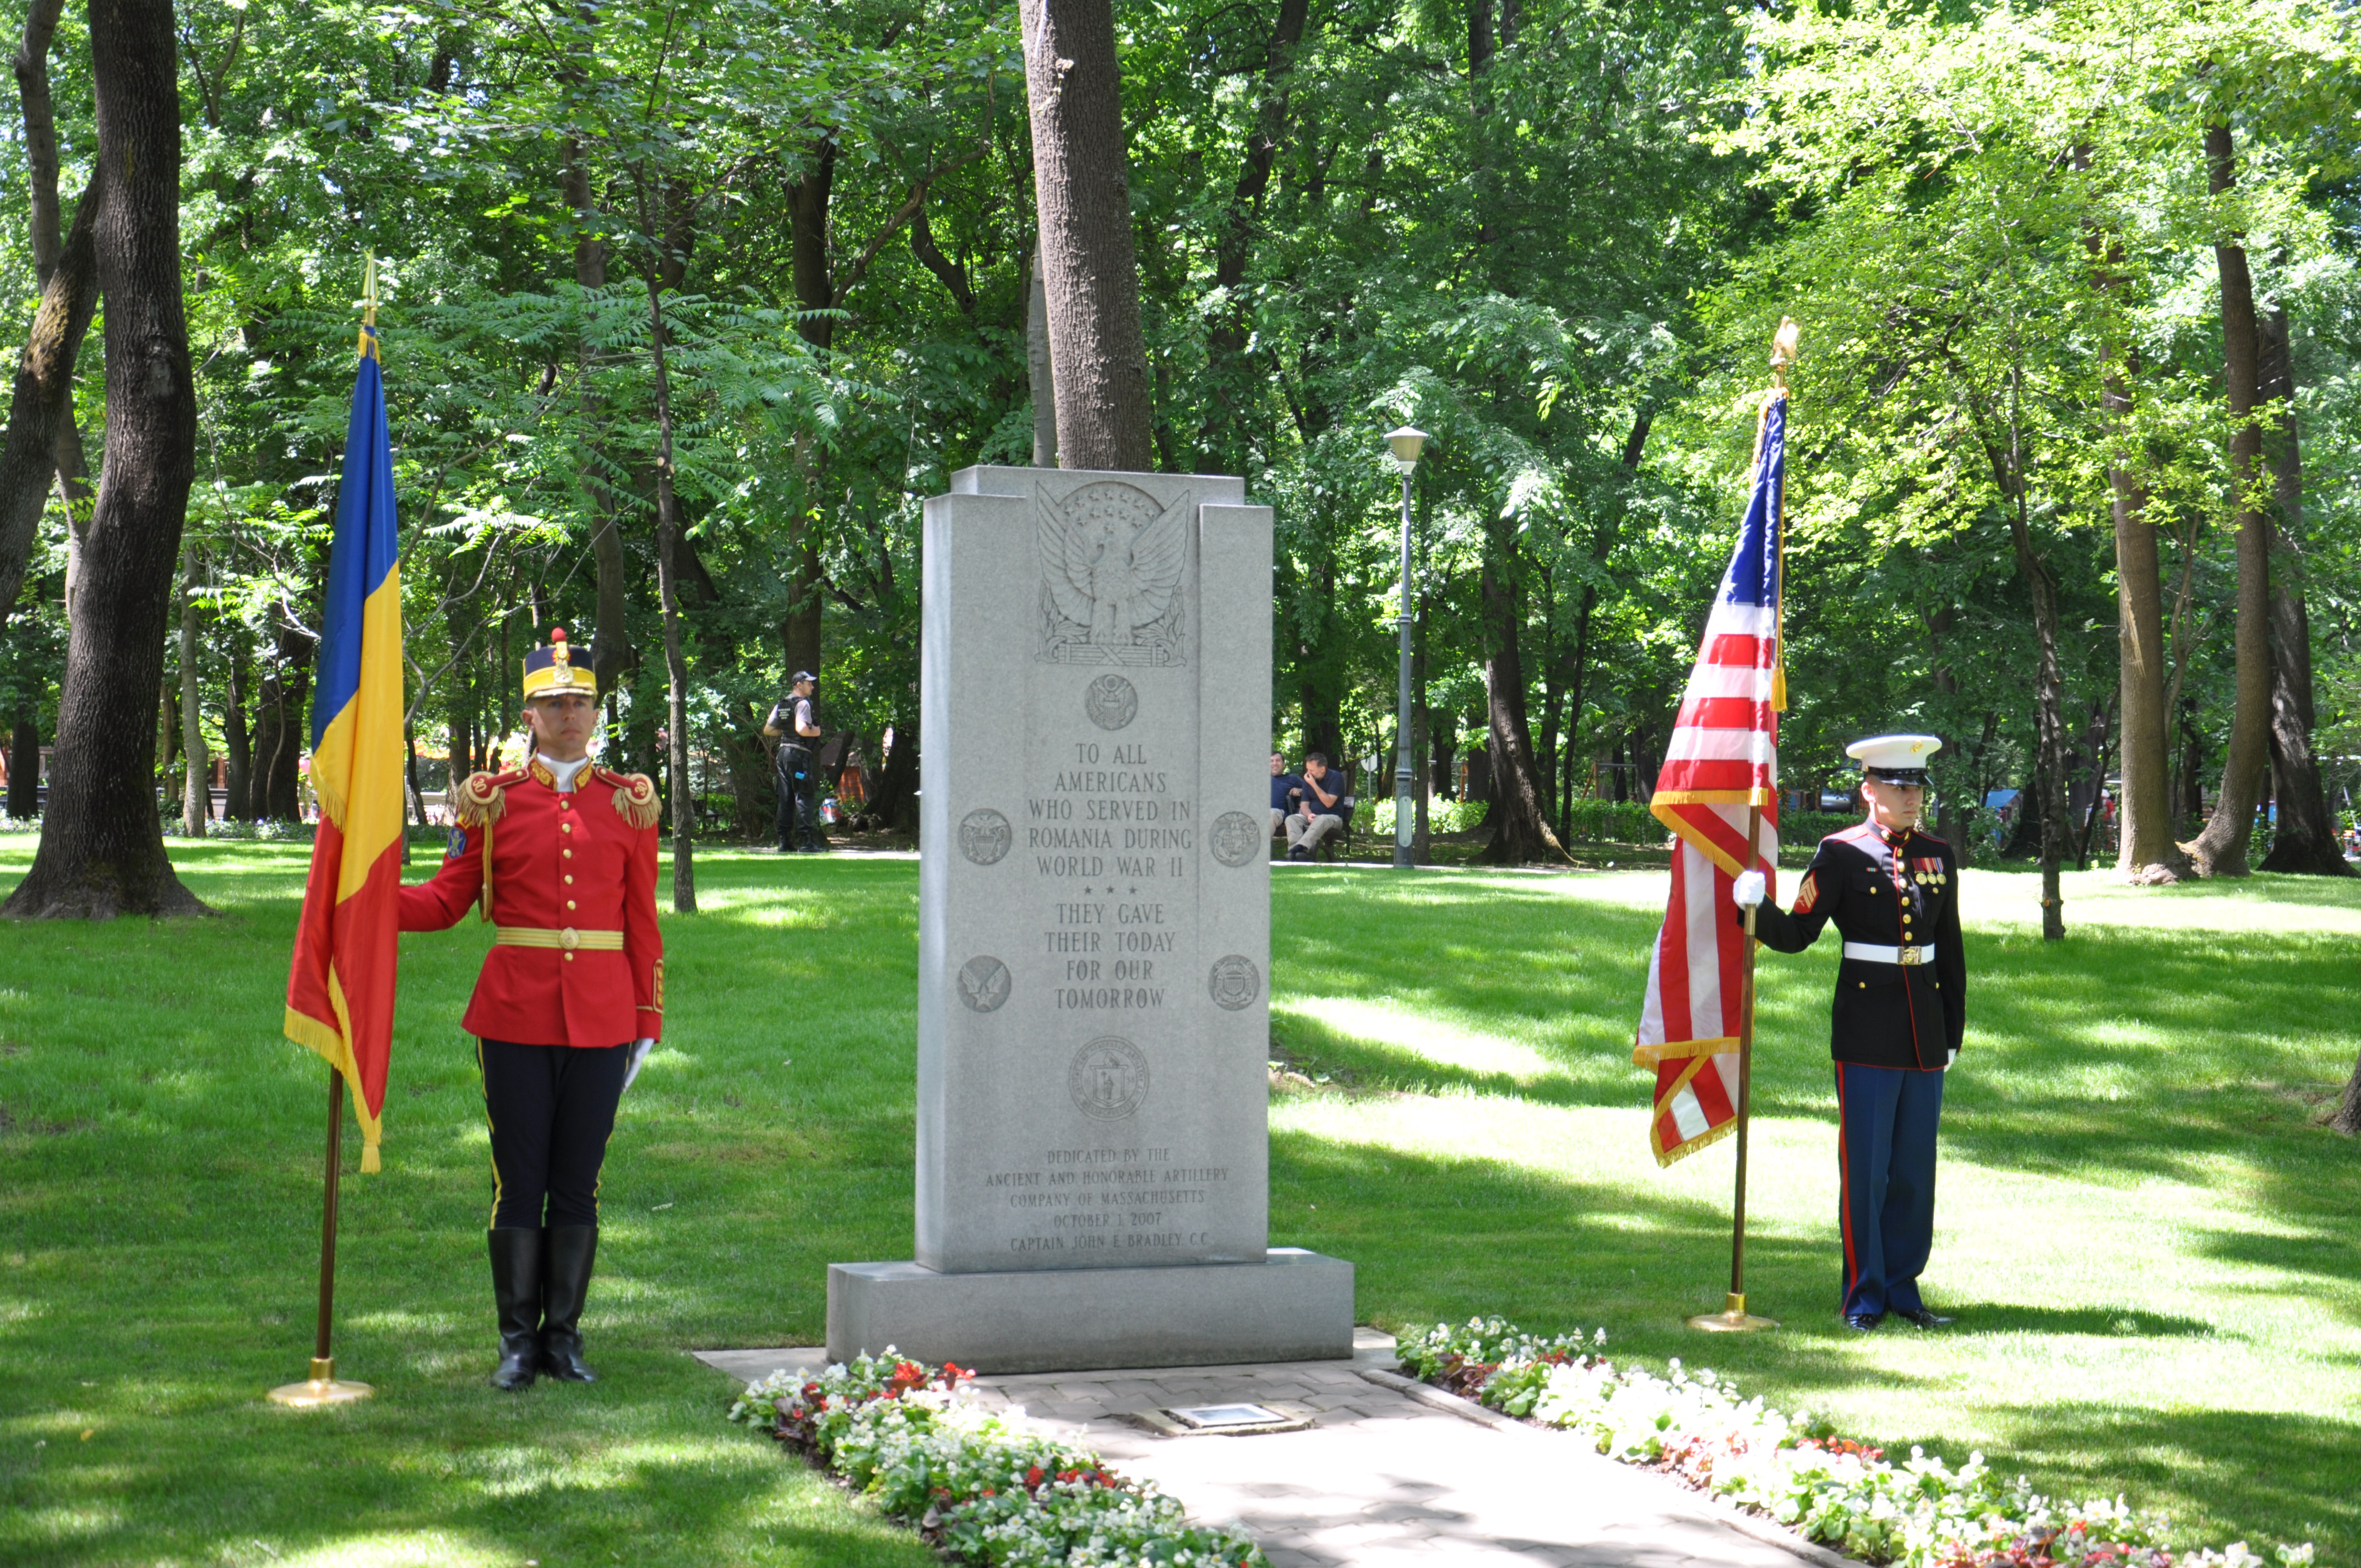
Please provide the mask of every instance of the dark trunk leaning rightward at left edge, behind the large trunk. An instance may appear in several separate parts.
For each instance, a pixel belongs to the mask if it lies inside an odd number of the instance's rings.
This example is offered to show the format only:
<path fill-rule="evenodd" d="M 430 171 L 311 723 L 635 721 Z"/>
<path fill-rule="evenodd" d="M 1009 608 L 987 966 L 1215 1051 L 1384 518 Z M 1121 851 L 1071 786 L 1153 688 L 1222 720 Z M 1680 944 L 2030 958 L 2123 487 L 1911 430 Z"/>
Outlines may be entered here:
<path fill-rule="evenodd" d="M 9 401 L 7 437 L 0 439 L 0 626 L 7 626 L 7 614 L 24 588 L 33 534 L 50 505 L 50 479 L 59 472 L 59 437 L 73 425 L 73 364 L 99 302 L 97 229 L 109 205 L 104 182 L 102 158 L 73 215 L 73 234 L 66 236 L 64 253 L 40 290 L 33 328 L 17 359 L 17 392 Z M 83 586 L 80 550 L 73 555 L 68 574 L 73 581 L 66 586 L 68 619 Z"/>

